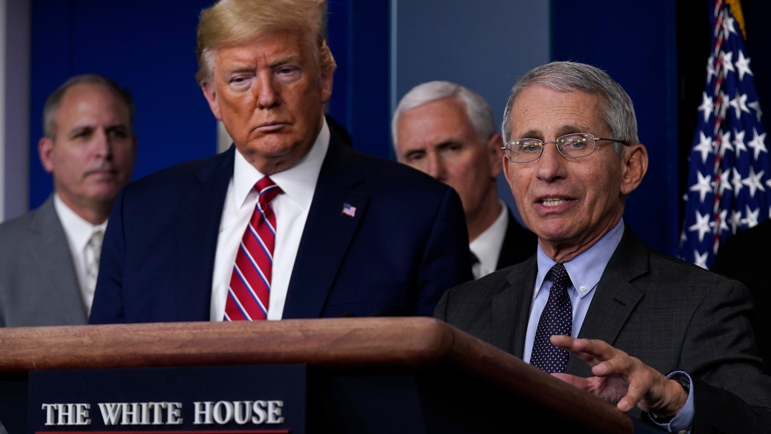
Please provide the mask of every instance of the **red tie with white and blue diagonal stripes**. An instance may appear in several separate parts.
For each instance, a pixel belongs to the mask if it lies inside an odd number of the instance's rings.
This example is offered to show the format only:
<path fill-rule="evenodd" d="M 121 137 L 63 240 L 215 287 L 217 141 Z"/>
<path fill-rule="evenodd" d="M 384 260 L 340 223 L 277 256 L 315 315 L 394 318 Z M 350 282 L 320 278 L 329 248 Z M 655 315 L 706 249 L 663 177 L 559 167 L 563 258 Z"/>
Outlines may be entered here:
<path fill-rule="evenodd" d="M 276 215 L 270 204 L 281 188 L 266 176 L 254 190 L 259 195 L 257 206 L 238 246 L 225 303 L 226 321 L 268 318 L 276 244 Z"/>

